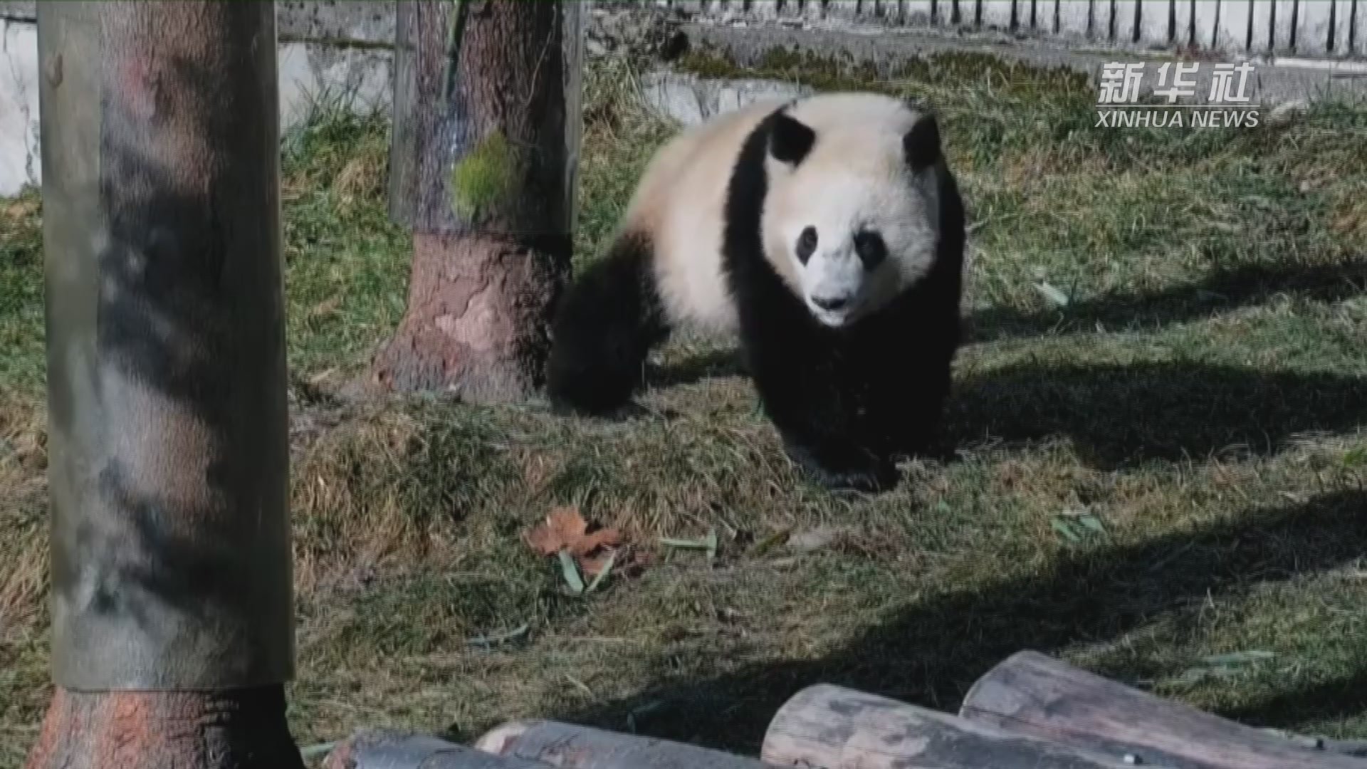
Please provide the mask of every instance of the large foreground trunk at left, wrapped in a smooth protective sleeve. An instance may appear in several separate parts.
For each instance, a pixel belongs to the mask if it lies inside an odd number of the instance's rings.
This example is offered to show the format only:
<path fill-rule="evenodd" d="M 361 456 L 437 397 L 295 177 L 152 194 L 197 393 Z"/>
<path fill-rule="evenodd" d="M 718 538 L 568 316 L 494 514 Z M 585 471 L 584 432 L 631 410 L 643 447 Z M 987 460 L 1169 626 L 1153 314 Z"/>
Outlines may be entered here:
<path fill-rule="evenodd" d="M 299 766 L 275 8 L 40 3 L 52 664 L 30 769 Z"/>

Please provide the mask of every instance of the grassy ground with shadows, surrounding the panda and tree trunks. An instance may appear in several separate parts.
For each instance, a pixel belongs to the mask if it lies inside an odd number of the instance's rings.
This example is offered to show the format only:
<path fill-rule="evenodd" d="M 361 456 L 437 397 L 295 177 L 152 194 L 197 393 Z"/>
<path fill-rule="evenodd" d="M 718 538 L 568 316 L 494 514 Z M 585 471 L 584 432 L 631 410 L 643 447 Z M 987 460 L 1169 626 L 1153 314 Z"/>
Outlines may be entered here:
<path fill-rule="evenodd" d="M 629 85 L 591 77 L 584 259 L 666 134 Z M 940 108 L 975 223 L 958 458 L 906 465 L 893 494 L 826 494 L 725 350 L 694 342 L 618 424 L 299 406 L 301 743 L 548 716 L 753 751 L 804 684 L 953 709 L 1024 647 L 1249 722 L 1367 736 L 1367 112 L 1094 129 L 1085 82 L 965 57 L 876 85 Z M 297 382 L 342 382 L 402 313 L 384 146 L 381 122 L 327 114 L 286 144 Z M 48 694 L 38 216 L 33 197 L 0 203 L 4 768 Z M 567 595 L 521 540 L 566 504 L 651 562 Z M 709 530 L 711 564 L 658 542 Z"/>

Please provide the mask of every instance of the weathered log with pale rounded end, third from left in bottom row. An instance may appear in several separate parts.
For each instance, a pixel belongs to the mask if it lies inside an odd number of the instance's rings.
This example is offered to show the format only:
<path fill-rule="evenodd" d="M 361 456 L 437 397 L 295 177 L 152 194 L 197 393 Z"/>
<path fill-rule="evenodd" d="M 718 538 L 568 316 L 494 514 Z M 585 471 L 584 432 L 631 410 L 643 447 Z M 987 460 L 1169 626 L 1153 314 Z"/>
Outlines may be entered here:
<path fill-rule="evenodd" d="M 830 684 L 783 703 L 760 759 L 817 769 L 1118 769 L 1121 759 Z"/>

